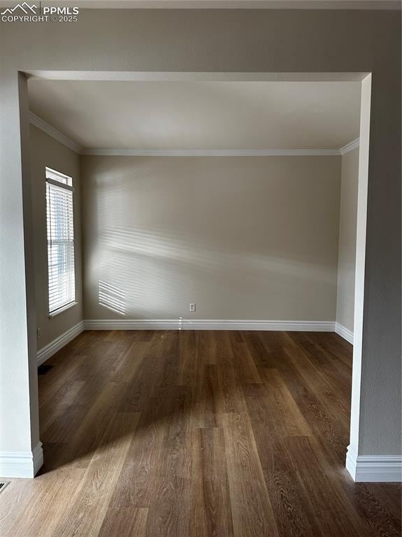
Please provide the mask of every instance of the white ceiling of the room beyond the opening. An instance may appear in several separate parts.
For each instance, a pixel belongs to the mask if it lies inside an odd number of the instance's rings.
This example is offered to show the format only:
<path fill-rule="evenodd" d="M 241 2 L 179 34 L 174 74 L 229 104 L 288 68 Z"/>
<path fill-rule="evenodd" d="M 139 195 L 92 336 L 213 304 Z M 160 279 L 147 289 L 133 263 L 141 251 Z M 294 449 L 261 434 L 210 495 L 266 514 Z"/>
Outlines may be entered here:
<path fill-rule="evenodd" d="M 337 149 L 360 83 L 29 80 L 30 108 L 82 148 Z"/>

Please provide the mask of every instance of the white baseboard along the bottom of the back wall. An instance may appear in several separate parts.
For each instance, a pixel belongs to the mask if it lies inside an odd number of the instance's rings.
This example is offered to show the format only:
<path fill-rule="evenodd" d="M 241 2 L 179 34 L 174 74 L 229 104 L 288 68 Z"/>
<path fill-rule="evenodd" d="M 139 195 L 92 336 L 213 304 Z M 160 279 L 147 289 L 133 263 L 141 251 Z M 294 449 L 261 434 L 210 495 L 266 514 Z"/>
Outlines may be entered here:
<path fill-rule="evenodd" d="M 333 332 L 332 321 L 260 320 L 85 320 L 85 330 L 277 330 Z"/>

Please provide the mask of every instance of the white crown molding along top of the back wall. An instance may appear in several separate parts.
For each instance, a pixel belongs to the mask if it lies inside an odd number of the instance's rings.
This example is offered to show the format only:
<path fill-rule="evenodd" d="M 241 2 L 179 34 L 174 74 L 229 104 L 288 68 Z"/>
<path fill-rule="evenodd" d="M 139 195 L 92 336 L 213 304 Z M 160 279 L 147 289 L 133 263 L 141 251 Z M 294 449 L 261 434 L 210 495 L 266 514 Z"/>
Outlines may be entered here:
<path fill-rule="evenodd" d="M 82 155 L 108 157 L 318 157 L 338 149 L 84 149 Z"/>

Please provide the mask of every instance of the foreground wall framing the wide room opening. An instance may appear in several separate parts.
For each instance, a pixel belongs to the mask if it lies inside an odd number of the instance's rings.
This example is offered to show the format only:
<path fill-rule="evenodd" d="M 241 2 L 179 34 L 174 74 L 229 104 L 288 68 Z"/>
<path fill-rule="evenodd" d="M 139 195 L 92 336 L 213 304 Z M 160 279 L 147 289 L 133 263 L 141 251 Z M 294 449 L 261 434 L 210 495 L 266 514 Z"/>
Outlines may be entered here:
<path fill-rule="evenodd" d="M 6 259 L 0 272 L 6 312 L 0 322 L 0 367 L 6 373 L 0 457 L 31 450 L 38 436 L 37 396 L 29 394 L 37 377 L 34 348 L 27 345 L 33 301 L 26 268 L 32 255 L 24 234 L 31 219 L 23 210 L 30 178 L 21 71 L 63 69 L 373 73 L 361 401 L 354 419 L 357 454 L 401 454 L 401 18 L 387 10 L 84 9 L 73 26 L 43 28 L 2 23 L 0 32 L 0 48 L 8 52 L 0 62 L 0 241 Z"/>

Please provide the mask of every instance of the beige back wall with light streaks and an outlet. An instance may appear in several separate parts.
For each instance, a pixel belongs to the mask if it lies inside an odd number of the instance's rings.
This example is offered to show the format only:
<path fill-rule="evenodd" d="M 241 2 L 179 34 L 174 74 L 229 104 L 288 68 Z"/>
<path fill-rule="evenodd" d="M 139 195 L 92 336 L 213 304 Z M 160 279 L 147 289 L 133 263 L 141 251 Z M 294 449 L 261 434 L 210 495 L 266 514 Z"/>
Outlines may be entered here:
<path fill-rule="evenodd" d="M 333 321 L 339 195 L 340 157 L 82 157 L 85 318 Z"/>

